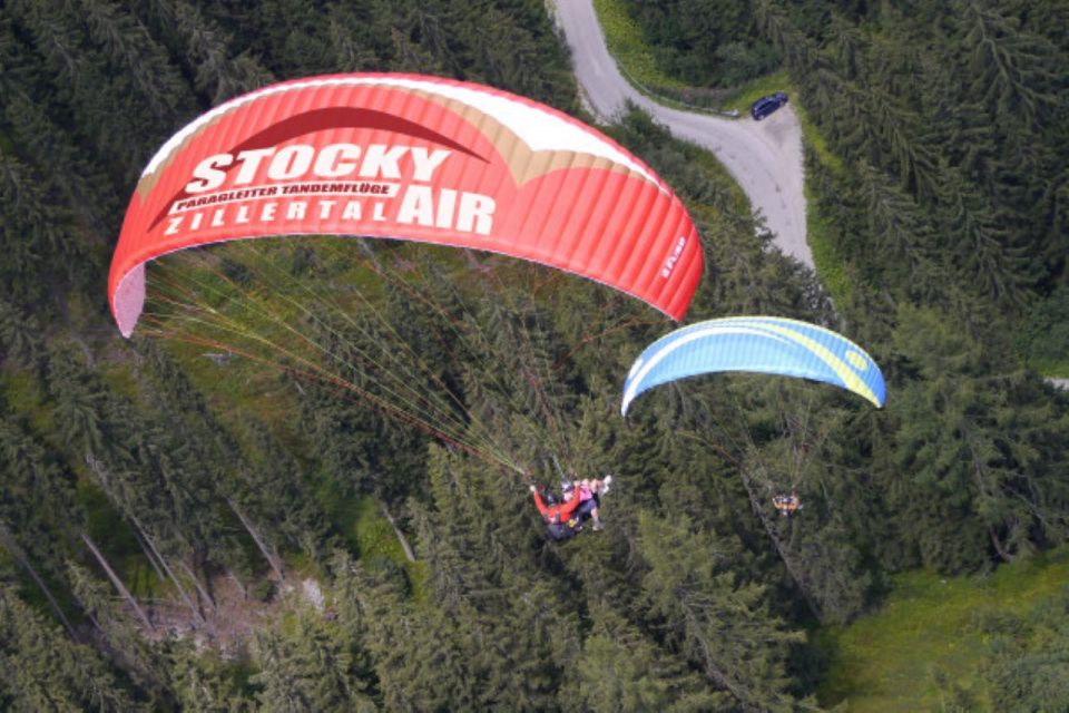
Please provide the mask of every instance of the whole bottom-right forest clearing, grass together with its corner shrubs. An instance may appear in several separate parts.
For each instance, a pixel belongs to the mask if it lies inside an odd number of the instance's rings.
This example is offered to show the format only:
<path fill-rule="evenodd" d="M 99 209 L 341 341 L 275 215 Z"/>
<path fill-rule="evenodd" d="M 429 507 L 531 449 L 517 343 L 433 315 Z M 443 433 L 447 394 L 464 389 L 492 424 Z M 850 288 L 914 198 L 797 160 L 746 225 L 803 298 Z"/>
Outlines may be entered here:
<path fill-rule="evenodd" d="M 957 692 L 969 710 L 1045 710 L 1018 703 L 1059 690 L 1047 676 L 1060 661 L 1067 583 L 1062 550 L 993 575 L 896 575 L 880 611 L 818 634 L 831 661 L 821 703 L 928 710 Z"/>

